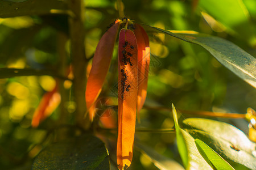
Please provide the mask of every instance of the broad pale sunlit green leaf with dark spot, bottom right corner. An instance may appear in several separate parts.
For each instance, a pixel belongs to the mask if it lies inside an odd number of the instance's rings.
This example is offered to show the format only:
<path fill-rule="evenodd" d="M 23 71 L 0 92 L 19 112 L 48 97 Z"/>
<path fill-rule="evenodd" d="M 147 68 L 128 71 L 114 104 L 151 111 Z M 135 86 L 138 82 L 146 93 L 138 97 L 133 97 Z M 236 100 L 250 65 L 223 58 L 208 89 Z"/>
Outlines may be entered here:
<path fill-rule="evenodd" d="M 235 165 L 238 163 L 256 169 L 256 144 L 251 142 L 241 130 L 224 122 L 204 118 L 187 118 L 183 124 L 193 138 L 199 138 L 207 143 L 232 167 L 236 168 Z M 246 169 L 245 167 L 242 169 Z"/>

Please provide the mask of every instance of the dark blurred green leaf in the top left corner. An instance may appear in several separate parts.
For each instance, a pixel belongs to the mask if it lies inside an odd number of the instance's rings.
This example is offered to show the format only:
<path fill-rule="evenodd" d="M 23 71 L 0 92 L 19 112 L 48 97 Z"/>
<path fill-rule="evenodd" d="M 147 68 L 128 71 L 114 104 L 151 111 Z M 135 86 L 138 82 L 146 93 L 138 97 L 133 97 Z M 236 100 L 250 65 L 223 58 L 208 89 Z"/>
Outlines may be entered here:
<path fill-rule="evenodd" d="M 67 1 L 59 0 L 28 0 L 24 2 L 0 1 L 0 18 L 43 15 L 68 14 Z"/>

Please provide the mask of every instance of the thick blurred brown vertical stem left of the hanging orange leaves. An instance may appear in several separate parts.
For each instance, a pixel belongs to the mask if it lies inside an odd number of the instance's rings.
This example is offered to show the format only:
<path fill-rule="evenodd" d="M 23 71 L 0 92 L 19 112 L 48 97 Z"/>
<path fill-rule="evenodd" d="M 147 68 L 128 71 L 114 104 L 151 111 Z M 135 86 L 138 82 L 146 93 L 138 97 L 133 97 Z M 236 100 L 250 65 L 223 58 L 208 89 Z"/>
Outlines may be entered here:
<path fill-rule="evenodd" d="M 69 8 L 75 14 L 69 18 L 69 35 L 71 39 L 71 59 L 73 63 L 73 90 L 76 101 L 76 123 L 85 129 L 89 127 L 89 118 L 85 118 L 85 86 L 86 86 L 86 57 L 84 29 L 84 1 L 70 0 Z"/>

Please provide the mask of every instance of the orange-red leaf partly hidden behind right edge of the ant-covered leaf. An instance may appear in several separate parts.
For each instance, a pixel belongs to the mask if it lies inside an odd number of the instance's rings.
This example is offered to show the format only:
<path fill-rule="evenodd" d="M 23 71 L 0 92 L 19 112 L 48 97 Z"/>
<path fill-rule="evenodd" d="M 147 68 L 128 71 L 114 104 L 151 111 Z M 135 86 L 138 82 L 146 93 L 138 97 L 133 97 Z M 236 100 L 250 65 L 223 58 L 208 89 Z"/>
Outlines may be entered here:
<path fill-rule="evenodd" d="M 148 69 L 150 64 L 150 48 L 147 33 L 139 24 L 135 24 L 134 34 L 138 43 L 138 100 L 137 118 L 140 122 L 141 111 L 147 96 Z"/>

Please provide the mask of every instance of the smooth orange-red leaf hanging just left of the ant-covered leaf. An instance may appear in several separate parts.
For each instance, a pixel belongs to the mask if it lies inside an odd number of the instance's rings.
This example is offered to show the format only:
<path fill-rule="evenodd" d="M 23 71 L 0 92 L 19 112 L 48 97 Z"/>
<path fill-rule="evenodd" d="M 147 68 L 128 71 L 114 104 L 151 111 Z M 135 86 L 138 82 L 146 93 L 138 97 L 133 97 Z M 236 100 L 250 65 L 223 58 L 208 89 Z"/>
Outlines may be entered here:
<path fill-rule="evenodd" d="M 88 110 L 100 95 L 106 74 L 108 73 L 118 27 L 119 23 L 114 24 L 98 42 L 85 91 L 86 107 Z M 93 118 L 93 115 L 90 115 L 90 117 Z"/>

